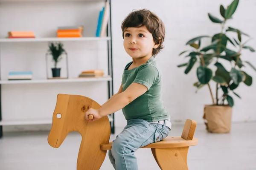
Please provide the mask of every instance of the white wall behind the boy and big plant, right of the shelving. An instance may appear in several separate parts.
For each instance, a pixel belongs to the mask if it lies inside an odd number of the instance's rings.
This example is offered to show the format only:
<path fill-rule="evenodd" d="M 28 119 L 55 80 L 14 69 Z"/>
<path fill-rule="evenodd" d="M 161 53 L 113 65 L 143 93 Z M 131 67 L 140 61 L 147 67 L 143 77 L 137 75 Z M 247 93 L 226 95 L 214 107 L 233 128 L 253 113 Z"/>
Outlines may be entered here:
<path fill-rule="evenodd" d="M 184 68 L 176 65 L 183 63 L 185 59 L 178 57 L 181 51 L 189 49 L 186 42 L 199 35 L 213 35 L 220 32 L 220 26 L 212 23 L 207 13 L 221 18 L 219 6 L 227 6 L 231 0 L 112 0 L 112 30 L 113 30 L 113 68 L 114 91 L 117 92 L 121 83 L 122 69 L 131 58 L 125 53 L 122 45 L 122 20 L 134 9 L 147 8 L 156 13 L 166 25 L 165 48 L 157 56 L 157 61 L 163 71 L 163 101 L 167 111 L 172 116 L 172 122 L 184 122 L 186 119 L 194 119 L 202 123 L 204 104 L 212 104 L 209 90 L 204 87 L 197 94 L 192 86 L 196 82 L 195 69 L 185 75 Z M 233 15 L 233 20 L 227 24 L 239 28 L 254 39 L 248 45 L 256 48 L 256 3 L 254 0 L 240 0 L 239 7 Z M 235 34 L 230 34 L 234 36 Z M 245 39 L 244 39 L 245 40 Z M 202 45 L 205 45 L 206 42 Z M 256 65 L 256 53 L 248 50 L 242 52 L 242 59 L 251 61 Z M 241 85 L 236 92 L 242 99 L 233 97 L 233 122 L 255 121 L 254 109 L 256 97 L 256 72 L 249 66 L 244 69 L 254 81 L 251 87 Z M 215 94 L 215 85 L 211 85 Z M 126 121 L 119 111 L 116 113 L 116 126 L 125 125 Z"/>

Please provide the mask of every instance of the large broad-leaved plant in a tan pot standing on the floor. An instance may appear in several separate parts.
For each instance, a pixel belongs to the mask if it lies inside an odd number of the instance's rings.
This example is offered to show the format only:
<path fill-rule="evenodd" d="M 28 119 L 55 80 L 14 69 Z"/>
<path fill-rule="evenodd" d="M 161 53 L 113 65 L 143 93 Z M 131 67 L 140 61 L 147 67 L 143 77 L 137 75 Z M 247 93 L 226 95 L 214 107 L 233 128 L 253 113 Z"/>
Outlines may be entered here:
<path fill-rule="evenodd" d="M 191 51 L 183 51 L 189 58 L 188 62 L 177 65 L 186 67 L 185 74 L 188 74 L 195 63 L 199 63 L 196 68 L 198 81 L 194 86 L 198 89 L 208 86 L 212 105 L 204 105 L 204 116 L 206 129 L 211 133 L 229 133 L 231 127 L 232 107 L 234 105 L 233 95 L 240 98 L 235 90 L 240 83 L 247 86 L 252 85 L 252 77 L 243 69 L 249 65 L 256 71 L 256 68 L 249 62 L 243 61 L 242 50 L 255 50 L 247 46 L 250 40 L 248 34 L 239 29 L 226 26 L 227 21 L 233 19 L 239 0 L 233 0 L 227 8 L 220 6 L 221 19 L 208 13 L 209 19 L 216 24 L 220 24 L 221 31 L 213 36 L 202 35 L 189 40 L 186 45 L 192 47 Z M 234 34 L 235 38 L 230 35 Z M 201 47 L 202 39 L 209 39 L 211 44 Z M 222 63 L 221 63 L 222 62 Z M 210 82 L 216 83 L 215 97 L 210 87 Z M 220 94 L 221 92 L 221 94 Z"/>

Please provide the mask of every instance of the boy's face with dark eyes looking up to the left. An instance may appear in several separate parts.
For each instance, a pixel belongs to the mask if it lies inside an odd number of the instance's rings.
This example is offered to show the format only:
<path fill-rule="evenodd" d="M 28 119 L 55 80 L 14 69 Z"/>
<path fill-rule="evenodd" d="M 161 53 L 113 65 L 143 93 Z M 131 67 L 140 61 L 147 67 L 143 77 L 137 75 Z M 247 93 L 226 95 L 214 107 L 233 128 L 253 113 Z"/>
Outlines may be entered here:
<path fill-rule="evenodd" d="M 143 26 L 129 27 L 124 32 L 124 48 L 132 58 L 151 57 L 155 45 L 152 34 Z"/>

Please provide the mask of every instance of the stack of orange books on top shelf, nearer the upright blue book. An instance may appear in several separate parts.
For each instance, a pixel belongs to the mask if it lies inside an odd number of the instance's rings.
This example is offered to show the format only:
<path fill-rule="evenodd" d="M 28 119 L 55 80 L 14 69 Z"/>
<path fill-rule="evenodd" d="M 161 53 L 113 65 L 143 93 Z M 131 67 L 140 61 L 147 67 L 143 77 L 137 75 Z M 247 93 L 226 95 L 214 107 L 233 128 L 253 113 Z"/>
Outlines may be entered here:
<path fill-rule="evenodd" d="M 83 37 L 83 26 L 61 26 L 57 29 L 57 37 Z"/>

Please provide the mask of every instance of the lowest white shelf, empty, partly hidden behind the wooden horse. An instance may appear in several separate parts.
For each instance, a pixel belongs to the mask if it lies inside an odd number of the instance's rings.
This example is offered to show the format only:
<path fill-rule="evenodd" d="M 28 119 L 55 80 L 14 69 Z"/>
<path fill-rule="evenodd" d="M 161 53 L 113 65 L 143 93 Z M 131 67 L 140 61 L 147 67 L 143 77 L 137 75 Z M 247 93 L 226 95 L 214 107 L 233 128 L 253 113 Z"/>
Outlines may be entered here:
<path fill-rule="evenodd" d="M 108 116 L 110 122 L 113 121 L 113 118 Z M 38 120 L 2 120 L 0 121 L 0 126 L 6 125 L 48 125 L 52 124 L 52 119 L 38 119 Z"/>

